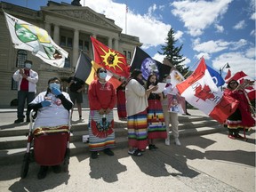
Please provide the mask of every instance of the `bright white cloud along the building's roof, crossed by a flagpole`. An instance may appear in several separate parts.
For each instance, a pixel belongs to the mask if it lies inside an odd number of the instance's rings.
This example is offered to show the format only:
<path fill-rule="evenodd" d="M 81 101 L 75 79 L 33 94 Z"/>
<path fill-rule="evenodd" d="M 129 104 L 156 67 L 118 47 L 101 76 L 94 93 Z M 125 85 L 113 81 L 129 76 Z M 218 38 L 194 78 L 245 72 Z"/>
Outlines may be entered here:
<path fill-rule="evenodd" d="M 86 0 L 85 5 L 95 12 L 104 12 L 106 17 L 115 20 L 116 25 L 123 28 L 123 33 L 125 33 L 125 4 L 117 4 L 112 0 Z M 171 25 L 158 20 L 159 16 L 156 18 L 151 15 L 156 8 L 156 4 L 151 6 L 145 15 L 135 13 L 132 10 L 127 13 L 127 34 L 139 36 L 143 49 L 164 44 L 164 39 L 171 28 Z"/>

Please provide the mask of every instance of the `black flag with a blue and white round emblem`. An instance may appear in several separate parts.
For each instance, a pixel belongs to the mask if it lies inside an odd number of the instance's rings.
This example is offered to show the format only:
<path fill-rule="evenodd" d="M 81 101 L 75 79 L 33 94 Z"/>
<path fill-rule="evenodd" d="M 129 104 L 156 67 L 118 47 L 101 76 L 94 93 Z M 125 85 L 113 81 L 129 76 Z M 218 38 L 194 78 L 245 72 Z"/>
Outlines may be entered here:
<path fill-rule="evenodd" d="M 136 46 L 133 53 L 131 71 L 135 68 L 140 69 L 145 80 L 147 80 L 148 76 L 152 73 L 155 73 L 158 79 L 163 79 L 164 75 L 170 74 L 171 71 L 170 66 L 164 65 L 157 60 L 153 60 L 147 52 L 144 52 L 138 46 Z"/>

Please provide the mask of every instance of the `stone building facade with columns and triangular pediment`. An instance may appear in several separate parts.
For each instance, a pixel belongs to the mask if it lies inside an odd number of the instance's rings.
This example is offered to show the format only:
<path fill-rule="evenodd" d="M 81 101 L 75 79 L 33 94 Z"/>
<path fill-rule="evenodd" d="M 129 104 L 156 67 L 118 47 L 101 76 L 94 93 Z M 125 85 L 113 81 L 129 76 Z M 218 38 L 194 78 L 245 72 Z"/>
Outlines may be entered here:
<path fill-rule="evenodd" d="M 32 69 L 39 75 L 37 93 L 46 89 L 47 81 L 52 76 L 60 77 L 62 89 L 68 91 L 66 80 L 74 75 L 79 52 L 82 50 L 91 58 L 93 56 L 90 36 L 109 48 L 124 53 L 128 63 L 132 60 L 135 46 L 141 46 L 139 37 L 123 34 L 115 20 L 86 6 L 49 1 L 39 11 L 5 2 L 1 2 L 0 7 L 0 106 L 10 106 L 11 101 L 17 98 L 17 83 L 13 81 L 12 74 L 23 67 L 24 60 L 32 60 Z M 53 41 L 68 52 L 64 68 L 52 67 L 31 52 L 14 49 L 3 10 L 20 20 L 44 28 Z"/>

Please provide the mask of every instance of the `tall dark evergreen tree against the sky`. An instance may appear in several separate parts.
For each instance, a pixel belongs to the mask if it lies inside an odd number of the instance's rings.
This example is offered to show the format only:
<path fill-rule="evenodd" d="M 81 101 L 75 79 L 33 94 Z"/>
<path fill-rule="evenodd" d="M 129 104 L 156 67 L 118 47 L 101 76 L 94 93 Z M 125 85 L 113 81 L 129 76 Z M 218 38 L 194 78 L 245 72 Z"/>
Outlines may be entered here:
<path fill-rule="evenodd" d="M 166 55 L 166 59 L 184 76 L 188 72 L 188 68 L 185 68 L 184 65 L 181 64 L 184 60 L 186 60 L 186 58 L 183 58 L 183 55 L 180 54 L 183 44 L 181 44 L 180 47 L 175 47 L 177 40 L 174 38 L 173 28 L 171 28 L 168 32 L 165 40 L 165 45 L 161 45 L 161 50 L 163 52 L 158 53 Z"/>

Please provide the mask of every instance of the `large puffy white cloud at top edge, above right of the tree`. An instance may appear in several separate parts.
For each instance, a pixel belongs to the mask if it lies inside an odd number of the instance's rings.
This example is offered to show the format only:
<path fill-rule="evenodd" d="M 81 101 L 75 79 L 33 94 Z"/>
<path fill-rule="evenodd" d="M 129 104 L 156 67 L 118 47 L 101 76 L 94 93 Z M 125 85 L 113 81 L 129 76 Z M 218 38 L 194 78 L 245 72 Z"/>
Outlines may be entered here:
<path fill-rule="evenodd" d="M 228 4 L 232 0 L 214 1 L 174 1 L 171 5 L 172 14 L 184 22 L 191 36 L 200 36 L 204 33 L 204 28 L 208 28 L 219 17 L 228 10 Z"/>

